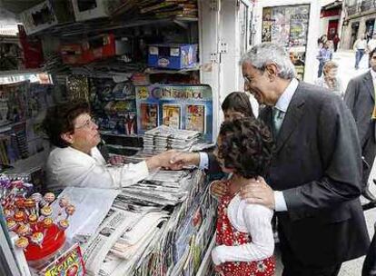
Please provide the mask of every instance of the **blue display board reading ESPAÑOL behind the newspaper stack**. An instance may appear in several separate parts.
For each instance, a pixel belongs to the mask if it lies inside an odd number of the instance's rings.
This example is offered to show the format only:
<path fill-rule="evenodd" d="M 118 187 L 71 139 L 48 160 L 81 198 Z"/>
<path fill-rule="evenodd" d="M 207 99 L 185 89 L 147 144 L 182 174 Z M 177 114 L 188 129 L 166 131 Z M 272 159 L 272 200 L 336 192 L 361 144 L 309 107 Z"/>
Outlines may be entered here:
<path fill-rule="evenodd" d="M 203 133 L 213 139 L 213 95 L 208 85 L 136 86 L 138 133 L 159 125 Z"/>

